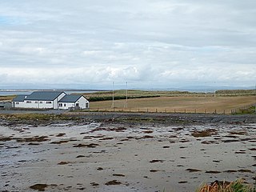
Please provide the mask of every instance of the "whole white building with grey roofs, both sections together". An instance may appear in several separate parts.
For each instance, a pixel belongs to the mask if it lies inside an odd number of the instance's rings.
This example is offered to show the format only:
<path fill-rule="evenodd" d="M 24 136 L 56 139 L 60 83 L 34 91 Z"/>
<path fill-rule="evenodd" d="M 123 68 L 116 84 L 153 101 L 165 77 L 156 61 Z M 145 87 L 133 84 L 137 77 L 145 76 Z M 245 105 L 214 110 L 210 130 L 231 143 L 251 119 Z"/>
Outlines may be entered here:
<path fill-rule="evenodd" d="M 66 100 L 63 100 L 64 102 L 60 105 L 59 102 L 66 96 L 68 97 Z M 75 98 L 77 98 L 76 101 L 74 101 Z M 67 107 L 64 107 L 64 104 Z M 70 106 L 73 106 L 72 104 L 81 109 L 89 108 L 89 102 L 82 95 L 67 95 L 63 91 L 34 91 L 32 94 L 28 95 L 20 94 L 12 101 L 12 107 L 34 109 L 68 109 Z"/>

